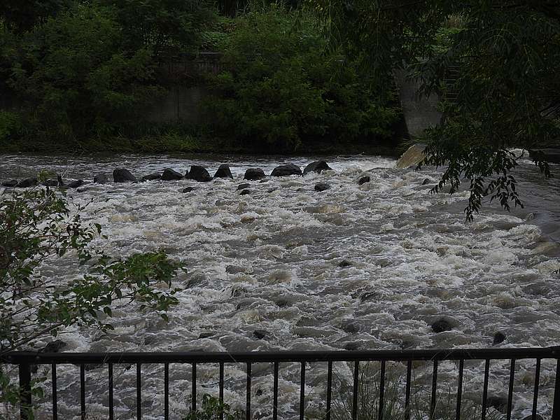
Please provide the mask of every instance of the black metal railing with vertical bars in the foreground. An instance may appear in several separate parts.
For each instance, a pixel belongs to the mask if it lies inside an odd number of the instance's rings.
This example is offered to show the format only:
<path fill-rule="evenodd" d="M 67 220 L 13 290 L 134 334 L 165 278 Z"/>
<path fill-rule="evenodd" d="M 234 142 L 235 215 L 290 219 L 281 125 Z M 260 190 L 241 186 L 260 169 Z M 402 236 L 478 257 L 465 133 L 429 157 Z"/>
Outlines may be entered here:
<path fill-rule="evenodd" d="M 411 403 L 411 372 L 412 363 L 418 361 L 431 361 L 433 363 L 430 419 L 434 418 L 437 398 L 437 369 L 442 360 L 455 360 L 458 362 L 457 393 L 456 393 L 456 419 L 461 417 L 461 404 L 463 402 L 463 370 L 465 360 L 484 361 L 484 386 L 482 396 L 482 420 L 486 416 L 486 403 L 489 387 L 489 367 L 491 360 L 510 360 L 509 382 L 507 387 L 507 420 L 512 416 L 512 402 L 514 394 L 514 379 L 516 361 L 522 359 L 535 360 L 535 379 L 533 388 L 532 419 L 538 419 L 537 407 L 539 398 L 539 382 L 541 360 L 556 360 L 556 377 L 554 380 L 554 398 L 552 401 L 552 420 L 560 420 L 560 346 L 531 349 L 453 349 L 453 350 L 409 350 L 409 351 L 275 351 L 275 352 L 242 352 L 242 353 L 33 353 L 12 352 L 1 356 L 1 363 L 18 365 L 21 389 L 21 419 L 28 418 L 31 401 L 31 371 L 35 365 L 50 365 L 52 374 L 52 419 L 58 419 L 57 412 L 57 365 L 72 364 L 80 367 L 80 411 L 82 419 L 86 418 L 85 400 L 85 367 L 87 365 L 107 365 L 109 368 L 109 419 L 113 420 L 113 365 L 136 365 L 136 405 L 137 419 L 142 416 L 141 404 L 141 376 L 142 365 L 164 365 L 164 408 L 163 416 L 169 419 L 169 364 L 190 364 L 192 366 L 192 401 L 191 409 L 197 410 L 197 365 L 203 363 L 219 364 L 219 400 L 224 398 L 224 365 L 225 363 L 243 363 L 246 365 L 246 419 L 251 419 L 251 365 L 254 363 L 271 363 L 274 365 L 274 384 L 272 400 L 272 419 L 278 419 L 279 398 L 279 363 L 300 363 L 300 401 L 299 416 L 304 419 L 305 402 L 305 367 L 306 363 L 327 363 L 326 410 L 325 419 L 330 420 L 332 409 L 332 363 L 353 362 L 353 386 L 351 416 L 358 419 L 358 376 L 360 362 L 379 362 L 379 395 L 378 416 L 384 416 L 386 363 L 406 363 L 405 379 L 405 419 L 410 418 Z"/>

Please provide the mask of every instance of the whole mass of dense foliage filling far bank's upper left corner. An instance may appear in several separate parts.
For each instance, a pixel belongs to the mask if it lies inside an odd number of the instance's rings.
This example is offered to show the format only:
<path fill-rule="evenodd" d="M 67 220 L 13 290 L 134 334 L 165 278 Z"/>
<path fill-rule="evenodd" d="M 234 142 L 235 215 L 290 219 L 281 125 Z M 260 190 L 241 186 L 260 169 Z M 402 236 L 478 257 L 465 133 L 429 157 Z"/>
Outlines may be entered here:
<path fill-rule="evenodd" d="M 165 94 L 156 77 L 160 55 L 197 50 L 214 20 L 213 8 L 194 0 L 43 6 L 0 9 L 0 92 L 18 98 L 22 124 L 12 136 L 57 147 L 134 131 Z M 0 120 L 0 132 L 13 132 L 11 123 Z"/>

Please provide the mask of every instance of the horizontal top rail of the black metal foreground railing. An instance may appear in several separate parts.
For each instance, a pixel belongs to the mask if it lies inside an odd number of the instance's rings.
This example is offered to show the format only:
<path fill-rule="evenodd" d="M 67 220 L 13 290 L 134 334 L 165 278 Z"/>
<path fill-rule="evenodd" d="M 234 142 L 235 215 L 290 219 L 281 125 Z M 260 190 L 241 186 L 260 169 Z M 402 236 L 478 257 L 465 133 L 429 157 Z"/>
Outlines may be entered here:
<path fill-rule="evenodd" d="M 1 363 L 274 363 L 340 362 L 367 360 L 507 360 L 525 358 L 560 359 L 560 346 L 519 349 L 430 349 L 371 351 L 245 351 L 181 353 L 40 353 L 12 351 L 0 355 Z"/>

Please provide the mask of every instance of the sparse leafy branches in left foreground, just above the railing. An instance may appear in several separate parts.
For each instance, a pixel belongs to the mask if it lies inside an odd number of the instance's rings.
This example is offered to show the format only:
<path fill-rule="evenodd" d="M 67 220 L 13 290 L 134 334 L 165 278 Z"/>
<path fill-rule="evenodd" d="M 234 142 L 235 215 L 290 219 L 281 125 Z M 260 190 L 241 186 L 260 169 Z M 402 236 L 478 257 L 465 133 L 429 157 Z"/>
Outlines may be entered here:
<path fill-rule="evenodd" d="M 50 189 L 0 197 L 0 356 L 32 349 L 71 325 L 111 330 L 113 309 L 136 304 L 167 320 L 172 280 L 182 265 L 164 251 L 112 258 L 93 245 L 102 228 L 83 224 Z M 64 267 L 65 278 L 45 272 Z M 0 368 L 0 404 L 17 405 L 18 387 Z"/>

